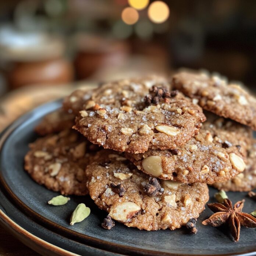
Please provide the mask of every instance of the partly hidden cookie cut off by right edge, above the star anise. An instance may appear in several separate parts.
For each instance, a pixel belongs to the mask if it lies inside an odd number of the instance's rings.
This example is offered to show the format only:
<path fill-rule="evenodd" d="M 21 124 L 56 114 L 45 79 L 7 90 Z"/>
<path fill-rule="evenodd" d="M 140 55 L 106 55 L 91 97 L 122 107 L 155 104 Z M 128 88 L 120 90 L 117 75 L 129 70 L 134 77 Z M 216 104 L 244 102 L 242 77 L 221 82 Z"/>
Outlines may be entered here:
<path fill-rule="evenodd" d="M 248 151 L 247 165 L 245 170 L 226 182 L 213 184 L 214 188 L 224 191 L 251 191 L 256 188 L 256 139 Z"/>

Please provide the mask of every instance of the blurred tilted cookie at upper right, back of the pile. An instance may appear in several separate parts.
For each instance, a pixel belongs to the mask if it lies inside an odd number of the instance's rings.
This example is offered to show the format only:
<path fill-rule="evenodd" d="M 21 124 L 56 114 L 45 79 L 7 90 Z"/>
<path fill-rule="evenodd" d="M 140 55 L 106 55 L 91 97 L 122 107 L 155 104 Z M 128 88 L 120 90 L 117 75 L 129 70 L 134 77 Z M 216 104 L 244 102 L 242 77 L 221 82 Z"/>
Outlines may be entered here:
<path fill-rule="evenodd" d="M 256 130 L 256 99 L 241 86 L 217 76 L 185 71 L 174 75 L 172 85 L 203 109 Z"/>

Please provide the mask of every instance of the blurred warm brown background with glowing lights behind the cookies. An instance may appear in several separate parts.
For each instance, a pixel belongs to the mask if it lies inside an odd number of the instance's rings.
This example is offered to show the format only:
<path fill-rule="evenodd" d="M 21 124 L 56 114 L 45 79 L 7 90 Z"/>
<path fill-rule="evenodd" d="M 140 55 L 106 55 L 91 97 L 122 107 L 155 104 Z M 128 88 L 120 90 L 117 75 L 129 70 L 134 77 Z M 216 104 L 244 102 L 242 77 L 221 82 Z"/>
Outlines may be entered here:
<path fill-rule="evenodd" d="M 0 1 L 0 130 L 78 86 L 180 67 L 256 90 L 256 1 Z"/>

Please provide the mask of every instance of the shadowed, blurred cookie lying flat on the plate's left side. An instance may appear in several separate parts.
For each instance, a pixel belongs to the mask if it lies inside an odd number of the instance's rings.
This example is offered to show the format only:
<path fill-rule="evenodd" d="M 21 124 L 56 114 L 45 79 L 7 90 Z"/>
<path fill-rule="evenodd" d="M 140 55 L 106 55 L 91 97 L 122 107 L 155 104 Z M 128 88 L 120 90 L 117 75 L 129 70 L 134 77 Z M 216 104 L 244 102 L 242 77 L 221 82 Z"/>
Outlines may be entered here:
<path fill-rule="evenodd" d="M 90 144 L 78 132 L 65 130 L 29 146 L 25 170 L 36 182 L 64 195 L 88 193 L 85 167 L 94 153 L 86 152 Z"/>

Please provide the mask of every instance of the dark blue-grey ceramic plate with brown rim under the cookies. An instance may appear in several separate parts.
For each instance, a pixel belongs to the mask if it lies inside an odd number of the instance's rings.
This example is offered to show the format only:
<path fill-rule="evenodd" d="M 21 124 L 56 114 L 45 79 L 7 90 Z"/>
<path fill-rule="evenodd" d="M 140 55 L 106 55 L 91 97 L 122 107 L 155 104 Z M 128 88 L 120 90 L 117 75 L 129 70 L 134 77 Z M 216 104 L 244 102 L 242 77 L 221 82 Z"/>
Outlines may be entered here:
<path fill-rule="evenodd" d="M 198 219 L 198 233 L 175 231 L 140 231 L 116 223 L 104 230 L 101 222 L 106 213 L 99 210 L 89 196 L 72 196 L 64 206 L 50 206 L 47 201 L 58 193 L 36 184 L 23 169 L 28 143 L 36 139 L 33 128 L 60 102 L 45 104 L 19 118 L 4 131 L 0 140 L 0 222 L 32 249 L 47 255 L 255 255 L 255 229 L 241 228 L 238 243 L 225 227 L 200 224 L 209 217 L 206 209 Z M 210 188 L 210 201 L 215 189 Z M 246 193 L 228 193 L 236 202 Z M 82 223 L 69 225 L 78 203 L 85 202 L 91 214 Z M 207 207 L 206 207 L 207 208 Z M 256 202 L 246 198 L 244 211 L 256 209 Z"/>

